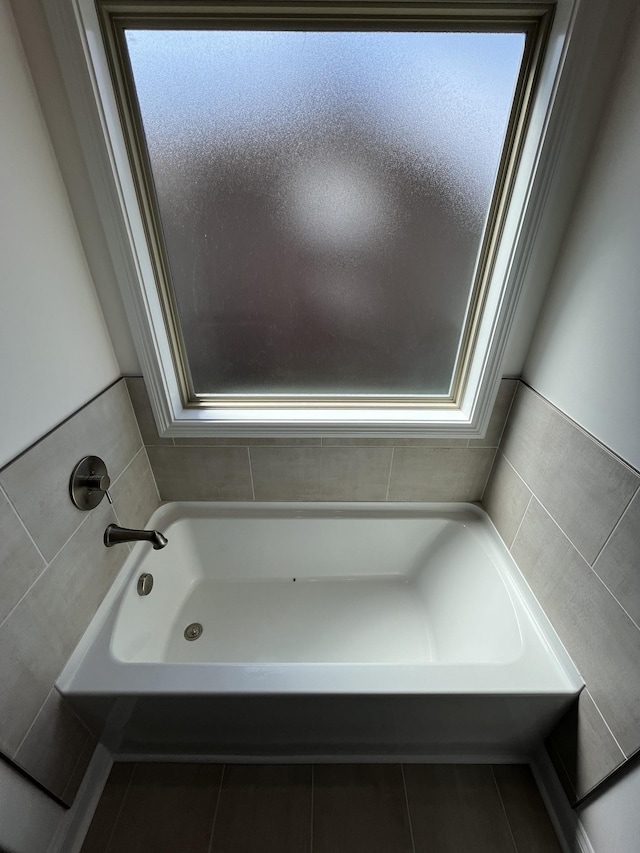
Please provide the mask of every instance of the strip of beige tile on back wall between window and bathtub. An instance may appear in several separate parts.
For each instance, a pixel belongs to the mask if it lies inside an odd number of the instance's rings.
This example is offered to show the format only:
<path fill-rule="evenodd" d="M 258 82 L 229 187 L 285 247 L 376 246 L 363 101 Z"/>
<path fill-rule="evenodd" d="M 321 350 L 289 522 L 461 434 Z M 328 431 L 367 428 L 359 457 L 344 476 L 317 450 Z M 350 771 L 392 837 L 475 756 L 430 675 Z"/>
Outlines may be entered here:
<path fill-rule="evenodd" d="M 484 439 L 163 439 L 127 379 L 163 500 L 477 501 L 517 381 L 502 381 Z"/>

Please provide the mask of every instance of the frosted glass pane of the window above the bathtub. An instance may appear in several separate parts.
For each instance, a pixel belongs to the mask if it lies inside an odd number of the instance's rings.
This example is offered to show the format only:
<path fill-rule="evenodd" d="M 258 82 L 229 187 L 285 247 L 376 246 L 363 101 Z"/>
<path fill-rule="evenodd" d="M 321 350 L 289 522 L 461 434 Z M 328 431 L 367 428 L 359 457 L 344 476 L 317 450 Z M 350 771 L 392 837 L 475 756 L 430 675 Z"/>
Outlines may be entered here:
<path fill-rule="evenodd" d="M 524 33 L 125 43 L 195 393 L 448 394 Z"/>

